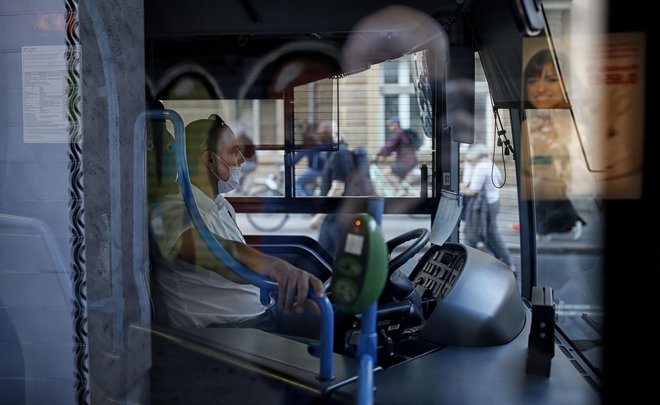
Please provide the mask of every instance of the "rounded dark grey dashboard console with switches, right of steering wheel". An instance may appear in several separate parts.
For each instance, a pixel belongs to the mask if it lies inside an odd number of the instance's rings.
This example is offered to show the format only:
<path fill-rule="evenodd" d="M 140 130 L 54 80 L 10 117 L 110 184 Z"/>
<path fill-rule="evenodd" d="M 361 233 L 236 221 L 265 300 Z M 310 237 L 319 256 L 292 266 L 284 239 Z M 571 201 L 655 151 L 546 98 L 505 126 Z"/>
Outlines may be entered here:
<path fill-rule="evenodd" d="M 423 340 L 443 345 L 510 342 L 525 326 L 524 304 L 509 268 L 458 243 L 433 245 L 410 273 L 425 302 Z"/>

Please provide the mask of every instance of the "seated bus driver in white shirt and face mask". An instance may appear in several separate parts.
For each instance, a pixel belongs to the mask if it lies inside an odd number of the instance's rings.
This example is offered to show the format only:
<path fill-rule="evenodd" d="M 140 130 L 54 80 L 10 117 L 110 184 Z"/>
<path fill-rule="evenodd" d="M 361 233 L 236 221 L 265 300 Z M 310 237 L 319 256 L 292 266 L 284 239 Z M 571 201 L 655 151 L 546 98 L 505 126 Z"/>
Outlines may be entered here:
<path fill-rule="evenodd" d="M 307 295 L 311 288 L 321 297 L 322 282 L 247 245 L 235 222 L 234 209 L 222 195 L 238 184 L 244 161 L 234 132 L 222 118 L 212 115 L 190 123 L 186 137 L 191 187 L 204 222 L 241 264 L 277 282 L 279 298 L 277 304 L 271 300 L 269 305 L 262 305 L 259 288 L 219 263 L 201 240 L 176 183 L 167 179 L 170 186 L 164 186 L 167 181 L 160 175 L 154 183 L 151 175 L 150 189 L 159 190 L 149 194 L 151 234 L 161 252 L 160 263 L 154 266 L 155 285 L 167 322 L 179 327 L 253 327 L 318 339 L 319 311 Z M 156 161 L 174 163 L 174 159 L 163 157 Z M 175 173 L 176 168 L 159 172 Z M 158 262 L 158 257 L 155 260 Z"/>

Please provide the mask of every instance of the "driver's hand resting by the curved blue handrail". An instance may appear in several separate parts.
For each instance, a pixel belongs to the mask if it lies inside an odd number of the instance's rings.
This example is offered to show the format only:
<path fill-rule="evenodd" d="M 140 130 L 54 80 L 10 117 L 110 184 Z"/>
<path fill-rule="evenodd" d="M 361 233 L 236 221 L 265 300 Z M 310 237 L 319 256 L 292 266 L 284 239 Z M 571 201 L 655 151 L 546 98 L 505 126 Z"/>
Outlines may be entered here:
<path fill-rule="evenodd" d="M 312 314 L 321 314 L 316 303 L 308 299 L 310 287 L 318 298 L 323 297 L 323 283 L 317 277 L 278 258 L 273 258 L 268 277 L 277 282 L 277 305 L 281 309 L 300 314 L 307 306 Z"/>

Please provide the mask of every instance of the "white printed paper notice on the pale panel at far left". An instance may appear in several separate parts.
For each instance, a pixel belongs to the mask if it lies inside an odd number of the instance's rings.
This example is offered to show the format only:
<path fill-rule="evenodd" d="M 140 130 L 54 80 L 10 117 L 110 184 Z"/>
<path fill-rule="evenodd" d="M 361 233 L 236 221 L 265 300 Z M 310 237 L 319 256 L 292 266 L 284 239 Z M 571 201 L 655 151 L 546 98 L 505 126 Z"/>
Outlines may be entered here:
<path fill-rule="evenodd" d="M 23 141 L 68 141 L 65 45 L 22 48 Z"/>

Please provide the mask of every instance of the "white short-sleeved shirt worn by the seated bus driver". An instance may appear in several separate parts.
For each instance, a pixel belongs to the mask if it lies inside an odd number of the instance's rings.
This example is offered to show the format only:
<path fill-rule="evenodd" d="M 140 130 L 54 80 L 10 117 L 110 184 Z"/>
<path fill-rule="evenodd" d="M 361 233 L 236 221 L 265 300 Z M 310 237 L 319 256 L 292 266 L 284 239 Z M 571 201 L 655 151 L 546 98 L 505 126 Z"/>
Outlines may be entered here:
<path fill-rule="evenodd" d="M 221 195 L 214 202 L 197 187 L 191 186 L 199 213 L 209 230 L 221 238 L 244 242 L 231 204 Z M 152 209 L 150 221 L 163 256 L 184 231 L 193 227 L 181 194 L 165 196 Z M 167 317 L 173 326 L 233 324 L 261 315 L 267 309 L 259 301 L 258 287 L 235 283 L 214 271 L 182 260 L 164 262 L 154 273 Z"/>

